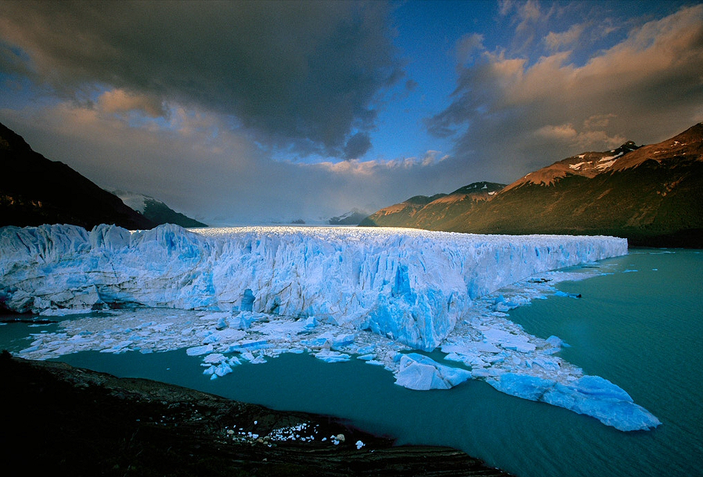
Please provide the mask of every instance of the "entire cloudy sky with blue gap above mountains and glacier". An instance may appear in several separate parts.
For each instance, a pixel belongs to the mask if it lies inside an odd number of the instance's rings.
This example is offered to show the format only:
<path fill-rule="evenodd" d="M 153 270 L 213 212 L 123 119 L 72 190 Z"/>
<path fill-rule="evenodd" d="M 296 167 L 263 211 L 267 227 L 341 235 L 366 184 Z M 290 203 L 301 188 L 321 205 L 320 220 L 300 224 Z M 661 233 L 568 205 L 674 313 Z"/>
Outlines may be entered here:
<path fill-rule="evenodd" d="M 0 2 L 0 122 L 210 225 L 371 213 L 702 121 L 702 2 Z"/>

